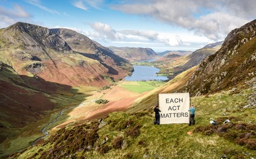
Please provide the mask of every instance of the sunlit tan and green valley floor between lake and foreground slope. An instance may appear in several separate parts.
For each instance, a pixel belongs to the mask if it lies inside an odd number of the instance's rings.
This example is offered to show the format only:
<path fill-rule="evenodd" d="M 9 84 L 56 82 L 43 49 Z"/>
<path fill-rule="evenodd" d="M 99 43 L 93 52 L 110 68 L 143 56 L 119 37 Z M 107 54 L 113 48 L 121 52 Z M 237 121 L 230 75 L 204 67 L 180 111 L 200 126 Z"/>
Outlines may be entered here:
<path fill-rule="evenodd" d="M 153 81 L 153 84 L 156 81 Z M 86 120 L 100 119 L 108 115 L 110 112 L 125 111 L 138 97 L 143 96 L 148 91 L 156 88 L 158 85 L 147 85 L 148 82 L 130 82 L 120 81 L 110 89 L 91 92 L 93 95 L 87 97 L 79 107 L 74 108 L 68 113 L 69 118 L 50 130 L 50 134 L 54 134 L 60 128 L 73 124 L 83 123 Z M 151 82 L 152 83 L 152 82 Z M 141 90 L 141 87 L 144 89 Z M 128 89 L 132 90 L 128 90 Z M 107 104 L 97 104 L 94 101 L 98 99 L 106 99 Z"/>

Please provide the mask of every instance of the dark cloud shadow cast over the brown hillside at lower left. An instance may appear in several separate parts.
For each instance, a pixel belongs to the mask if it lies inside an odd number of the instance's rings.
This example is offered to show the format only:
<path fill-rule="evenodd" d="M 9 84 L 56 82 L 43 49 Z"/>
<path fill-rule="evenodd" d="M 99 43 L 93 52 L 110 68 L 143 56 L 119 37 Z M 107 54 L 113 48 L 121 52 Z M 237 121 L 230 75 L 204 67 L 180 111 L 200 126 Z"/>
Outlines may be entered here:
<path fill-rule="evenodd" d="M 90 94 L 78 93 L 69 85 L 14 73 L 0 66 L 0 143 L 19 135 L 28 124 L 45 117 L 46 111 L 79 105 Z M 48 113 L 49 114 L 49 113 Z M 37 126 L 36 126 L 37 127 Z M 34 128 L 36 128 L 34 127 Z M 0 152 L 1 154 L 1 152 Z"/>

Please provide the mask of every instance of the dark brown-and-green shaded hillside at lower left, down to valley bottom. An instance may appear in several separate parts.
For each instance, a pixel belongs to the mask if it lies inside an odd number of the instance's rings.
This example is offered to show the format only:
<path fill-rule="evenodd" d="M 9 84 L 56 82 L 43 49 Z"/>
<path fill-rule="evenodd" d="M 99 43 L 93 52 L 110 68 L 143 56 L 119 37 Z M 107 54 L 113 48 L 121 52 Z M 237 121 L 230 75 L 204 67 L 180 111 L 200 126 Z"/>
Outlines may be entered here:
<path fill-rule="evenodd" d="M 55 112 L 85 97 L 71 86 L 20 75 L 0 62 L 0 158 L 29 146 Z"/>

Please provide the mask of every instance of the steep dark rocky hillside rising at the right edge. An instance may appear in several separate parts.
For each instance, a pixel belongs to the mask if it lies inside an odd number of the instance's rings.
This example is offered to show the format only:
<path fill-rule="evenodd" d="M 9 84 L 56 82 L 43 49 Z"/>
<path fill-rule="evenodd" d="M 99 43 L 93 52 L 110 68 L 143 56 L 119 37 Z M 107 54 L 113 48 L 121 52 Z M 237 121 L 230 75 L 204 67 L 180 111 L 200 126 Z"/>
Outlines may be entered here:
<path fill-rule="evenodd" d="M 256 76 L 256 20 L 234 29 L 219 51 L 207 56 L 186 84 L 192 95 L 218 92 Z"/>

